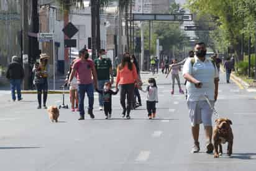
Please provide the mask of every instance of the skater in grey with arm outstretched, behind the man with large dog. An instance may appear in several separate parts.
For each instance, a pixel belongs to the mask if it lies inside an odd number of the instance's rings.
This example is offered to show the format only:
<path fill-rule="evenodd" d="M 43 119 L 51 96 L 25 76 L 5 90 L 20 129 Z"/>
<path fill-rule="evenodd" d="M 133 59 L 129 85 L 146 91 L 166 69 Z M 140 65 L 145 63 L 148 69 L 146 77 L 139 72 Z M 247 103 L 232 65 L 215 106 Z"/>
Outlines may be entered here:
<path fill-rule="evenodd" d="M 172 90 L 171 90 L 171 94 L 174 94 L 174 85 L 175 85 L 175 79 L 178 82 L 178 86 L 180 88 L 180 94 L 184 94 L 184 91 L 181 89 L 181 85 L 180 85 L 180 76 L 179 76 L 179 72 L 181 71 L 181 66 L 180 65 L 175 65 L 177 63 L 176 59 L 173 59 L 173 65 L 171 65 L 170 71 L 168 72 L 167 76 L 170 74 L 171 72 L 171 80 L 172 80 Z"/>

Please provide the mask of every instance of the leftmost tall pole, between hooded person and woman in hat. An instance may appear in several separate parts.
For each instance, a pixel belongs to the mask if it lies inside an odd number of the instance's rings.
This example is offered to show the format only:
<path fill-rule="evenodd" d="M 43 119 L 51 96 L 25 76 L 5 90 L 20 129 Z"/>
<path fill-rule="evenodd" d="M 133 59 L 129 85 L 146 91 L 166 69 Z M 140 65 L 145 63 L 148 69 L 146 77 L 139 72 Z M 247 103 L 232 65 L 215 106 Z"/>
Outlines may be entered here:
<path fill-rule="evenodd" d="M 30 0 L 28 0 L 30 1 Z M 24 82 L 23 82 L 23 89 L 29 89 L 29 37 L 28 37 L 28 30 L 29 30 L 29 21 L 28 21 L 28 9 L 27 9 L 27 1 L 21 1 L 21 28 L 22 28 L 22 54 L 21 54 L 21 61 L 24 67 Z"/>

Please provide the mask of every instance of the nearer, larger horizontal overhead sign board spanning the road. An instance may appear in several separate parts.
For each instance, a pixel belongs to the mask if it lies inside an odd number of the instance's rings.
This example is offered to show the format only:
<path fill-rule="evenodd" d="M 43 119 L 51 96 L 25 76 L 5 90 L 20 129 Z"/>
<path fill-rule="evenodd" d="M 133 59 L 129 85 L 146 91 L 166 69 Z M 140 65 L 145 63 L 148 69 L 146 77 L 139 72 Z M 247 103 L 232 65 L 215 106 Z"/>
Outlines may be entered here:
<path fill-rule="evenodd" d="M 192 14 L 134 14 L 134 20 L 170 20 L 170 21 L 191 21 Z"/>

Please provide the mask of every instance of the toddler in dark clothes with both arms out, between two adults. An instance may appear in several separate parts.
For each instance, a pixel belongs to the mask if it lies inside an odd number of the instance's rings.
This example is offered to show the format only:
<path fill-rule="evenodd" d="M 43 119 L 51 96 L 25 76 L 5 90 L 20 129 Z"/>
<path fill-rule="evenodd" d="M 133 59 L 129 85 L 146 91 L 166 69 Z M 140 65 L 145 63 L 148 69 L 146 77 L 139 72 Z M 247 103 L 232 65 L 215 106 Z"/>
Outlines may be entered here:
<path fill-rule="evenodd" d="M 103 95 L 103 105 L 104 105 L 104 113 L 106 116 L 106 120 L 111 118 L 112 113 L 112 95 L 116 95 L 119 89 L 114 92 L 111 90 L 111 82 L 106 82 L 104 84 L 103 90 L 96 89 L 96 92 Z"/>

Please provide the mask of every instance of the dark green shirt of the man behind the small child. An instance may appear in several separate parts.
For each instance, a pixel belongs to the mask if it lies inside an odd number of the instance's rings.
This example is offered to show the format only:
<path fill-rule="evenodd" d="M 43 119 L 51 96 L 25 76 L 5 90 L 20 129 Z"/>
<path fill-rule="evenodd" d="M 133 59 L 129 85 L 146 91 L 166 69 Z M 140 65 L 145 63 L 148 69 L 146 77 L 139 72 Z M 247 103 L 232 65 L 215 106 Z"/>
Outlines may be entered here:
<path fill-rule="evenodd" d="M 109 69 L 112 68 L 111 59 L 94 59 L 98 80 L 109 80 Z"/>

